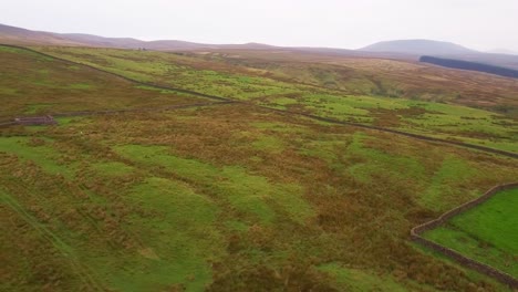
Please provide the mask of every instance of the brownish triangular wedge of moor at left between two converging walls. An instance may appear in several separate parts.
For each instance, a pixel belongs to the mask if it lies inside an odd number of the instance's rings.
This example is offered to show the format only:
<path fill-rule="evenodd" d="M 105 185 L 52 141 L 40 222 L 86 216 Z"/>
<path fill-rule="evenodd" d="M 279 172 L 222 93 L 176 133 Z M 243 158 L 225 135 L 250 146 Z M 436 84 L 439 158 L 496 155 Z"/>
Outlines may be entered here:
<path fill-rule="evenodd" d="M 0 46 L 0 117 L 138 108 L 199 102 L 193 96 L 136 86 L 110 74 L 24 50 Z"/>

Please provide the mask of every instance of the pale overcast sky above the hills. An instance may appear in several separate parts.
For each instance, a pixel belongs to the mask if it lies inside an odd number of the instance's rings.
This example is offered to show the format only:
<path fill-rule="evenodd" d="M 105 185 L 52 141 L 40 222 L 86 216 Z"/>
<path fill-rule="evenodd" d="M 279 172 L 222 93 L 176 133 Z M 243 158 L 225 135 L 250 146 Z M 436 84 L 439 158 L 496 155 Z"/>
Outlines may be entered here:
<path fill-rule="evenodd" d="M 356 49 L 433 39 L 518 51 L 518 0 L 0 0 L 0 23 L 143 40 Z"/>

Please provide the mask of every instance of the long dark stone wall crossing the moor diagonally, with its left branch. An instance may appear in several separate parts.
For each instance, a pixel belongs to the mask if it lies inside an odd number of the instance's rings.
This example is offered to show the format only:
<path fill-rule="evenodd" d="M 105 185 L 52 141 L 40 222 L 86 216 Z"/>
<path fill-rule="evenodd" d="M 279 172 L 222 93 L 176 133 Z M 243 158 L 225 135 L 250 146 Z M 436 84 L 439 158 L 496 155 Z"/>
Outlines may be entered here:
<path fill-rule="evenodd" d="M 130 77 L 126 77 L 126 76 L 123 76 L 123 75 L 120 75 L 120 74 L 116 74 L 116 73 L 112 73 L 112 72 L 106 71 L 106 70 L 102 70 L 102 69 L 92 66 L 92 65 L 87 65 L 87 64 L 70 61 L 70 60 L 66 60 L 66 59 L 53 56 L 51 54 L 42 53 L 42 52 L 32 50 L 32 49 L 29 49 L 29 48 L 24 48 L 24 46 L 10 45 L 10 44 L 0 44 L 0 45 L 30 51 L 30 52 L 33 52 L 33 53 L 37 53 L 37 54 L 40 54 L 40 55 L 44 55 L 44 56 L 48 56 L 48 58 L 52 58 L 54 60 L 59 60 L 59 61 L 62 61 L 62 62 L 65 62 L 65 63 L 69 63 L 69 64 L 85 66 L 85 67 L 95 70 L 97 72 L 102 72 L 102 73 L 105 73 L 105 74 L 111 74 L 113 76 L 117 76 L 120 79 L 123 79 L 125 81 L 128 81 L 128 82 L 132 82 L 132 83 L 135 83 L 135 84 L 139 84 L 139 85 L 151 86 L 151 87 L 155 87 L 155 88 L 159 88 L 159 90 L 175 91 L 175 92 L 186 93 L 186 94 L 190 94 L 190 95 L 195 95 L 195 96 L 200 96 L 200 97 L 206 97 L 206 98 L 216 100 L 216 101 L 220 101 L 220 102 L 226 102 L 226 103 L 219 103 L 219 104 L 228 104 L 228 103 L 250 104 L 250 103 L 236 101 L 236 100 L 228 98 L 228 97 L 208 95 L 208 94 L 204 94 L 204 93 L 199 93 L 199 92 L 194 92 L 194 91 L 188 91 L 188 90 L 183 90 L 183 88 L 176 88 L 176 87 L 172 87 L 172 86 L 164 86 L 164 85 L 159 85 L 159 84 L 155 84 L 155 83 L 142 82 L 142 81 L 130 79 Z M 425 135 L 418 135 L 418 134 L 413 134 L 413 133 L 407 133 L 407 132 L 392 129 L 392 128 L 385 128 L 385 127 L 376 127 L 376 126 L 371 126 L 371 125 L 365 125 L 365 124 L 360 124 L 360 123 L 343 122 L 343 121 L 338 121 L 338 119 L 328 118 L 328 117 L 321 117 L 321 116 L 311 115 L 311 114 L 297 113 L 297 112 L 290 112 L 290 111 L 282 111 L 282 109 L 271 108 L 271 107 L 256 105 L 256 104 L 250 104 L 250 105 L 258 106 L 258 107 L 261 107 L 261 108 L 266 108 L 266 109 L 269 109 L 269 111 L 284 113 L 284 114 L 305 116 L 305 117 L 309 117 L 309 118 L 312 118 L 312 119 L 327 122 L 327 123 L 332 123 L 332 124 L 338 124 L 338 125 L 348 125 L 348 126 L 374 129 L 374 131 L 379 131 L 379 132 L 402 135 L 402 136 L 406 136 L 406 137 L 411 137 L 411 138 L 415 138 L 415 139 L 419 139 L 419 140 L 454 145 L 454 146 L 476 149 L 476 150 L 480 150 L 480 152 L 485 152 L 485 153 L 498 154 L 498 155 L 503 155 L 503 156 L 507 156 L 507 157 L 511 157 L 511 158 L 518 158 L 518 153 L 511 153 L 511 152 L 495 149 L 495 148 L 485 147 L 485 146 L 480 146 L 480 145 L 474 145 L 474 144 L 468 144 L 468 143 L 435 138 L 435 137 L 429 137 L 429 136 L 425 136 Z M 191 105 L 191 106 L 197 106 L 197 105 Z M 184 107 L 187 107 L 187 106 L 184 106 Z M 169 107 L 169 109 L 174 109 L 174 108 L 182 108 L 182 106 L 178 106 L 178 107 L 172 106 L 172 107 Z M 92 113 L 92 114 L 99 113 L 99 114 L 101 114 L 101 113 L 104 112 L 105 114 L 108 114 L 108 113 L 123 113 L 123 112 L 132 112 L 132 111 L 133 112 L 138 112 L 139 109 L 99 111 L 99 112 L 82 112 L 82 113 L 85 113 L 83 115 L 89 115 L 86 113 Z M 151 108 L 148 108 L 148 109 L 144 109 L 144 111 L 152 112 L 152 111 L 167 111 L 167 109 L 157 109 L 157 108 L 151 109 Z M 77 112 L 77 113 L 81 113 L 81 112 Z M 66 113 L 61 113 L 61 116 L 65 116 L 65 115 L 66 115 Z M 77 114 L 77 115 L 80 115 L 80 114 Z M 56 116 L 60 116 L 60 114 L 58 114 Z M 69 114 L 69 116 L 72 116 L 72 114 Z"/>

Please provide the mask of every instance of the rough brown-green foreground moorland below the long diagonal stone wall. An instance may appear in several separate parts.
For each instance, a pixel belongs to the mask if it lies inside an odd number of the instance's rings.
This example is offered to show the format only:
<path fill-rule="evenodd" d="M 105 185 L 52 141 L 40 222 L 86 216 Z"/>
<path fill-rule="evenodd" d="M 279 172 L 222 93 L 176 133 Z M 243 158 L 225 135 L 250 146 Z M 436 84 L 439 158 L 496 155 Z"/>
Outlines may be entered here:
<path fill-rule="evenodd" d="M 8 291 L 505 289 L 408 230 L 510 158 L 236 104 L 60 122 L 2 129 Z"/>

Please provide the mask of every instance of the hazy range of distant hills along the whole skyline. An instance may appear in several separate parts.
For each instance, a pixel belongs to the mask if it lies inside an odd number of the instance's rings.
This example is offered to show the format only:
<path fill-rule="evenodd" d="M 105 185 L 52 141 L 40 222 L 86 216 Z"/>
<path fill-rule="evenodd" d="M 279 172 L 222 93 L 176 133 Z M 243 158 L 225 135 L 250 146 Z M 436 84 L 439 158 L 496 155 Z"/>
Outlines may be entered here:
<path fill-rule="evenodd" d="M 418 61 L 422 55 L 478 62 L 518 70 L 518 55 L 483 53 L 458 44 L 432 40 L 398 40 L 379 42 L 360 50 L 334 48 L 289 48 L 261 43 L 206 44 L 178 40 L 142 41 L 133 38 L 104 38 L 84 33 L 54 33 L 32 31 L 0 24 L 0 43 L 19 45 L 63 45 L 113 49 L 142 49 L 155 51 L 261 50 L 290 51 L 328 56 L 376 58 Z"/>

